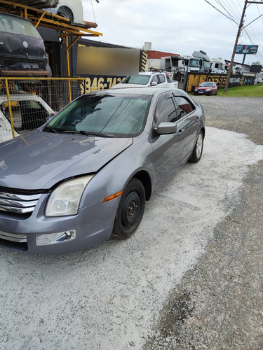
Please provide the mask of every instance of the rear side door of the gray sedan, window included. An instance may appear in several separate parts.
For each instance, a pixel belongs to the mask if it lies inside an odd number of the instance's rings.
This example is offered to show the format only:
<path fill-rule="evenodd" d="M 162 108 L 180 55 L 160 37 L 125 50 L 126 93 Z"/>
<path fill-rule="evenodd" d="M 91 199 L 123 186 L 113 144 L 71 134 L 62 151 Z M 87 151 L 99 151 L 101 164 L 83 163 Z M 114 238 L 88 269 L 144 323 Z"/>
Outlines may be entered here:
<path fill-rule="evenodd" d="M 177 116 L 179 118 L 178 125 L 180 125 L 180 130 L 183 134 L 184 148 L 182 161 L 185 158 L 189 158 L 191 152 L 196 144 L 196 138 L 199 131 L 199 119 L 200 115 L 196 111 L 196 107 L 191 103 L 187 97 L 176 96 L 175 104 L 177 108 Z"/>

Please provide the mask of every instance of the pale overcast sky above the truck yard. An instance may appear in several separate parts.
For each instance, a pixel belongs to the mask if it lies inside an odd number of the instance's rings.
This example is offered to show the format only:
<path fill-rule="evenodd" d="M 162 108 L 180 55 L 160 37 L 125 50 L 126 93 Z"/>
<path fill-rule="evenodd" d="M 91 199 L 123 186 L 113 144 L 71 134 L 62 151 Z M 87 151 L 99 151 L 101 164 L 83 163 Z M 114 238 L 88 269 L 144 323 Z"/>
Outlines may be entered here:
<path fill-rule="evenodd" d="M 191 55 L 203 50 L 208 57 L 231 59 L 245 0 L 82 0 L 84 20 L 97 23 L 100 40 L 106 43 Z M 262 0 L 257 0 L 257 2 Z M 219 10 L 233 20 L 225 17 Z M 262 4 L 245 11 L 248 25 L 263 13 Z M 238 43 L 259 45 L 257 55 L 245 63 L 263 64 L 263 16 L 242 31 Z M 236 55 L 235 62 L 242 62 Z"/>

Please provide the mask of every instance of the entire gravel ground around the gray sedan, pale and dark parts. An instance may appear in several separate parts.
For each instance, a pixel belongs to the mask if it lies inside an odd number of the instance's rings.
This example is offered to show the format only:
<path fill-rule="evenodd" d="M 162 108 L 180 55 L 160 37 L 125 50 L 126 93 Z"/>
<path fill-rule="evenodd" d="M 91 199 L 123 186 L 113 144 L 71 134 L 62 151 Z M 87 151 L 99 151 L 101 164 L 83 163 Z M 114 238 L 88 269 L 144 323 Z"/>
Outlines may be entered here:
<path fill-rule="evenodd" d="M 2 350 L 263 349 L 262 99 L 195 99 L 203 158 L 154 195 L 131 239 L 0 249 Z"/>

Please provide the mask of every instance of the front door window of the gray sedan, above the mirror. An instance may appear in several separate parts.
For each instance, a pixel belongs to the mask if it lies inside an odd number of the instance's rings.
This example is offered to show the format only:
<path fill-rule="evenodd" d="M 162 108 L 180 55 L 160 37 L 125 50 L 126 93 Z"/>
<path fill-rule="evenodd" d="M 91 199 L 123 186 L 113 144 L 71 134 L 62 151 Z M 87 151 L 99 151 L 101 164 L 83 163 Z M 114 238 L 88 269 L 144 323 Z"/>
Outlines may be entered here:
<path fill-rule="evenodd" d="M 171 94 L 166 94 L 165 96 L 160 97 L 157 102 L 154 120 L 156 125 L 159 125 L 162 122 L 175 123 L 177 120 L 175 104 L 173 103 L 173 97 Z"/>

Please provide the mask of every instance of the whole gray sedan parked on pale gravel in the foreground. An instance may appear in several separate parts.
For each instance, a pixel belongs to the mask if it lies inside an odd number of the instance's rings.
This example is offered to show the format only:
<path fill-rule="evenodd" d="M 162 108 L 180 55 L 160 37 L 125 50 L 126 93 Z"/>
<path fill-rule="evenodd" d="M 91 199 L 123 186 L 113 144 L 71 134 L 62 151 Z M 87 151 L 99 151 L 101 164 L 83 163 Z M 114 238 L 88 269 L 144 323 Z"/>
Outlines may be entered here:
<path fill-rule="evenodd" d="M 203 109 L 182 90 L 82 95 L 0 145 L 0 246 L 53 254 L 130 237 L 154 191 L 201 159 L 204 136 Z"/>

